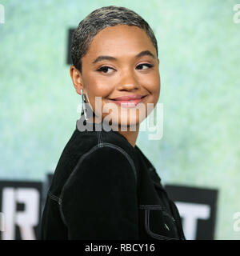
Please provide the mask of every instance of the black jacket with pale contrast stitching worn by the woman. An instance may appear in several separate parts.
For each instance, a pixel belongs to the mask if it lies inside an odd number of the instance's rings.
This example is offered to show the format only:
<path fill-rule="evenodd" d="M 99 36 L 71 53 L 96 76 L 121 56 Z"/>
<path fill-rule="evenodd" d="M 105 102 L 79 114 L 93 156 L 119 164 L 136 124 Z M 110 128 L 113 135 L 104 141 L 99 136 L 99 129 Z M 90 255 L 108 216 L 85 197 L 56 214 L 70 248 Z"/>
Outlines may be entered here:
<path fill-rule="evenodd" d="M 82 118 L 54 171 L 41 239 L 185 239 L 177 207 L 138 146 L 99 124 L 80 131 Z"/>

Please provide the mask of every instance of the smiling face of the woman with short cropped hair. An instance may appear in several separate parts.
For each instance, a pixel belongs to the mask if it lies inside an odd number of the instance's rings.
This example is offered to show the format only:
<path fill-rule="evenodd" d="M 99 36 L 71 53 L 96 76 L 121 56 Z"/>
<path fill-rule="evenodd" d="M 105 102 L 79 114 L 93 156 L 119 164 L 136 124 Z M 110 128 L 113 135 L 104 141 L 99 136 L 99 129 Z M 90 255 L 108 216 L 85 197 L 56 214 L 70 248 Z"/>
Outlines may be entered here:
<path fill-rule="evenodd" d="M 138 26 L 118 25 L 98 32 L 82 58 L 82 74 L 71 66 L 70 75 L 97 117 L 112 126 L 138 126 L 158 102 L 158 67 L 157 52 L 146 32 Z M 123 96 L 130 98 L 119 98 Z"/>

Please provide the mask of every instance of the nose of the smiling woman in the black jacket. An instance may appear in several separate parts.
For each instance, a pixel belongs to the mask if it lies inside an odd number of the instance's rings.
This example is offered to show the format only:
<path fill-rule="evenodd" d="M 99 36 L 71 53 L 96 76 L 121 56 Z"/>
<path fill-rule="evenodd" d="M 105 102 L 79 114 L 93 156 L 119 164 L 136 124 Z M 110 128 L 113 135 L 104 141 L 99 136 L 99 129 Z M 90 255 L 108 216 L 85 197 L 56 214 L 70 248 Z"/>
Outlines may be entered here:
<path fill-rule="evenodd" d="M 138 90 L 140 88 L 138 79 L 134 76 L 134 72 L 125 71 L 121 75 L 118 90 Z"/>

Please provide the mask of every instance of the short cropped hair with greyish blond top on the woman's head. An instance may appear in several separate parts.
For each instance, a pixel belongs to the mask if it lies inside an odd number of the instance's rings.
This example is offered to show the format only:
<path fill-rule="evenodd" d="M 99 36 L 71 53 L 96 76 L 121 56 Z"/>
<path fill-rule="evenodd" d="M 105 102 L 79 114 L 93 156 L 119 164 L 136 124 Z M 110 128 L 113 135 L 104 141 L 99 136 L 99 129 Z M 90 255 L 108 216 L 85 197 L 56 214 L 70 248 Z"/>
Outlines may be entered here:
<path fill-rule="evenodd" d="M 154 36 L 153 30 L 149 24 L 133 10 L 129 10 L 121 6 L 104 6 L 94 10 L 86 16 L 74 30 L 71 58 L 73 65 L 82 73 L 82 57 L 84 57 L 90 46 L 90 42 L 98 32 L 106 26 L 116 26 L 124 24 L 128 26 L 138 26 L 146 31 L 151 42 L 157 51 L 158 56 L 158 42 Z"/>

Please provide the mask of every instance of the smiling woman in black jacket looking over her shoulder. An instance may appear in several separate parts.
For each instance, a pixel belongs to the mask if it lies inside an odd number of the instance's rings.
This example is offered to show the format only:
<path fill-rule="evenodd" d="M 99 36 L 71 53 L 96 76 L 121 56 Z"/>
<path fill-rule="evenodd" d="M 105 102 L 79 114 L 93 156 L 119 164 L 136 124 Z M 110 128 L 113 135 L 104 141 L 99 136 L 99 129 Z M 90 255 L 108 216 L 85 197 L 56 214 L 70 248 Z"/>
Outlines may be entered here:
<path fill-rule="evenodd" d="M 126 8 L 102 7 L 79 23 L 71 55 L 83 111 L 54 172 L 41 238 L 185 239 L 177 207 L 136 145 L 160 94 L 150 26 Z"/>

